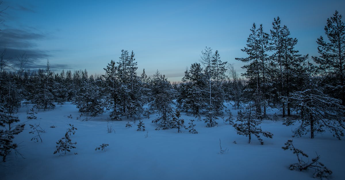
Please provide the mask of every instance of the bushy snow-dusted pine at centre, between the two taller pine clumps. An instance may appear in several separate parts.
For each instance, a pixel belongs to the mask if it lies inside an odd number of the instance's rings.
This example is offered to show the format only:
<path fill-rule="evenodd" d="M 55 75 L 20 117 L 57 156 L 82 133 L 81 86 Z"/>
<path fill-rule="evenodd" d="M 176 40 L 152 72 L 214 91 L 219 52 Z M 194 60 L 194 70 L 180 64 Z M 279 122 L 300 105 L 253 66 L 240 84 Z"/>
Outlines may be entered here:
<path fill-rule="evenodd" d="M 162 129 L 173 128 L 175 126 L 172 117 L 174 113 L 171 105 L 174 98 L 174 89 L 172 89 L 170 82 L 161 75 L 158 70 L 151 80 L 151 96 L 152 101 L 149 105 L 158 111 L 158 117 L 152 122 L 158 124 Z"/>

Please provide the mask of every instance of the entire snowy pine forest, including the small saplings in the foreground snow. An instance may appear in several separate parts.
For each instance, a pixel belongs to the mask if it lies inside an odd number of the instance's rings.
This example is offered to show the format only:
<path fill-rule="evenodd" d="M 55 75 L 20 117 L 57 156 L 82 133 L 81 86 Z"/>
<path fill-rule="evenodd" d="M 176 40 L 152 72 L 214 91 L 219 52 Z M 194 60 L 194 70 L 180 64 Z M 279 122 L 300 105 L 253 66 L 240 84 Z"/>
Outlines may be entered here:
<path fill-rule="evenodd" d="M 314 139 L 326 133 L 341 140 L 345 129 L 342 15 L 335 11 L 327 19 L 325 34 L 316 39 L 319 55 L 315 57 L 299 53 L 295 48 L 298 40 L 279 17 L 274 18 L 272 27 L 253 23 L 249 32 L 246 46 L 241 49 L 247 56 L 236 58 L 245 64 L 245 73 L 238 74 L 233 64 L 221 59 L 218 50 L 206 47 L 195 54 L 200 56 L 199 62 L 186 69 L 179 83 L 169 82 L 158 70 L 153 75 L 146 74 L 145 69 L 138 70 L 134 51 L 121 50 L 117 61 L 104 65 L 102 75 L 93 76 L 86 69 L 53 72 L 49 60 L 45 69 L 30 70 L 26 67 L 26 54 L 18 54 L 14 63 L 6 58 L 4 48 L 0 54 L 1 166 L 11 154 L 21 154 L 15 137 L 24 128 L 31 129 L 31 140 L 42 142 L 41 126 L 30 124 L 30 120 L 68 104 L 77 108 L 77 119 L 83 123 L 106 118 L 108 130 L 109 122 L 123 121 L 126 127 L 122 128 L 138 126 L 137 131 L 145 131 L 145 121 L 146 126 L 155 127 L 156 133 L 174 129 L 198 136 L 198 121 L 206 128 L 217 128 L 224 122 L 230 125 L 228 131 L 244 135 L 246 143 L 252 143 L 254 138 L 265 146 L 264 140 L 274 139 L 275 135 L 261 129 L 260 124 L 278 120 L 279 126 L 293 127 L 292 137 Z M 272 109 L 277 111 L 273 113 Z M 20 113 L 26 119 L 18 118 Z M 193 119 L 188 125 L 186 117 Z M 68 127 L 65 139 L 56 142 L 54 154 L 66 155 L 76 148 L 69 138 L 77 128 L 72 124 Z M 289 139 L 283 146 L 298 158 L 290 170 L 313 169 L 313 176 L 321 179 L 332 174 L 318 161 L 318 155 L 308 162 L 300 159 L 308 156 L 292 142 Z M 103 143 L 96 150 L 105 150 L 107 146 Z M 219 146 L 221 153 L 229 151 L 221 147 L 220 139 Z"/>

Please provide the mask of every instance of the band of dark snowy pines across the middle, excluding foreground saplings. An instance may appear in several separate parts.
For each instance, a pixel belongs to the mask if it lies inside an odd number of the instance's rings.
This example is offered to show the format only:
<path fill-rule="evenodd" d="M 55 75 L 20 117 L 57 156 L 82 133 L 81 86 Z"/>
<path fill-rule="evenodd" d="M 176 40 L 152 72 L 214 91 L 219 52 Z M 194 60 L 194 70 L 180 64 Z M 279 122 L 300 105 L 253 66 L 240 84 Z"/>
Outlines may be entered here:
<path fill-rule="evenodd" d="M 133 51 L 122 50 L 103 75 L 94 77 L 86 70 L 54 73 L 49 61 L 45 69 L 30 71 L 25 69 L 28 58 L 24 55 L 14 68 L 4 58 L 5 49 L 0 54 L 0 104 L 8 114 L 15 114 L 25 103 L 46 111 L 72 102 L 85 120 L 105 110 L 112 120 L 149 118 L 157 112 L 152 122 L 157 129 L 168 129 L 179 126 L 177 111 L 197 119 L 202 114 L 206 126 L 215 127 L 225 116 L 224 102 L 228 101 L 234 109 L 241 109 L 239 117 L 268 119 L 267 108 L 278 108 L 286 125 L 299 122 L 295 135 L 310 132 L 314 138 L 315 133 L 329 130 L 340 138 L 344 136 L 345 105 L 345 26 L 341 19 L 338 11 L 327 19 L 326 38 L 316 41 L 319 56 L 311 58 L 295 49 L 298 40 L 279 17 L 274 18 L 269 33 L 254 23 L 241 49 L 247 57 L 236 58 L 245 64 L 243 78 L 233 64 L 221 59 L 219 51 L 206 47 L 179 84 L 171 84 L 158 70 L 148 76 L 144 69 L 138 76 Z"/>

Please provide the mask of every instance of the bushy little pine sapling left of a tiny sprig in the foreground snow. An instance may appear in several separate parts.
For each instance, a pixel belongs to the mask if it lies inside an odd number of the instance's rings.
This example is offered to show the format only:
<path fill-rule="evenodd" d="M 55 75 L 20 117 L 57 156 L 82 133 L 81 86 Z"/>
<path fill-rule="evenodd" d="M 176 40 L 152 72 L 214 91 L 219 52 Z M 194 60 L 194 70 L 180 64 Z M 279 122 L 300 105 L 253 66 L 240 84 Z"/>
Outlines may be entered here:
<path fill-rule="evenodd" d="M 65 133 L 65 137 L 61 138 L 58 142 L 56 142 L 56 150 L 53 154 L 60 153 L 60 156 L 64 156 L 66 155 L 67 151 L 70 152 L 71 149 L 76 148 L 74 145 L 77 144 L 77 142 L 72 142 L 70 136 L 76 133 L 77 128 L 75 128 L 71 124 L 69 124 L 69 126 L 70 127 L 67 129 Z"/>

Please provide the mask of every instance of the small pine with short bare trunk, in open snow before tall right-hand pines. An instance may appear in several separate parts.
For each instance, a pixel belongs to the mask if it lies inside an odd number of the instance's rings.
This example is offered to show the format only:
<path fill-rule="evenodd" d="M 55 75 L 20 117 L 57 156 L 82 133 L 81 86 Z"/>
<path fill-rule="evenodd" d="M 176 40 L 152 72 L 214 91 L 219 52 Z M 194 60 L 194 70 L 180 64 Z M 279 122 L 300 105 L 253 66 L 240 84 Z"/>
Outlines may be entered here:
<path fill-rule="evenodd" d="M 250 143 L 252 139 L 252 134 L 258 138 L 260 144 L 264 144 L 263 140 L 260 138 L 260 134 L 267 138 L 272 138 L 273 136 L 272 133 L 263 131 L 261 127 L 258 126 L 261 120 L 257 119 L 257 114 L 252 103 L 248 103 L 243 111 L 238 111 L 236 122 L 240 122 L 234 124 L 237 134 L 249 137 L 248 143 Z"/>

